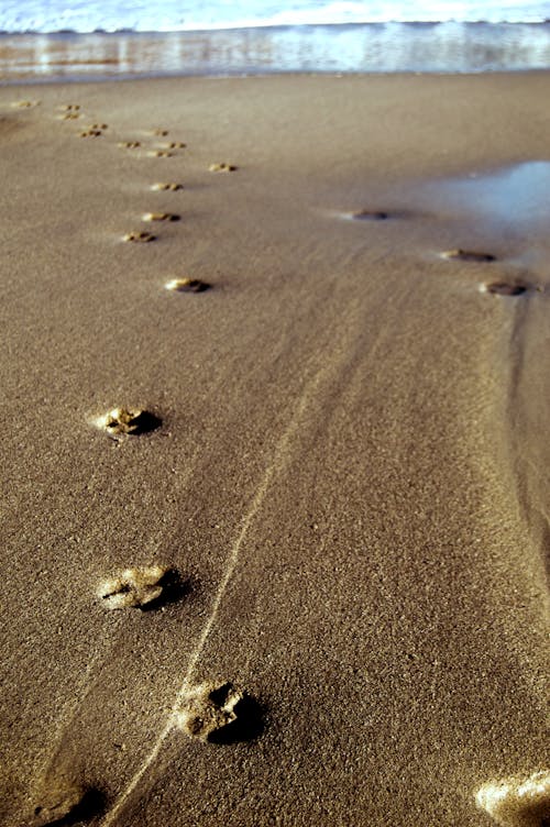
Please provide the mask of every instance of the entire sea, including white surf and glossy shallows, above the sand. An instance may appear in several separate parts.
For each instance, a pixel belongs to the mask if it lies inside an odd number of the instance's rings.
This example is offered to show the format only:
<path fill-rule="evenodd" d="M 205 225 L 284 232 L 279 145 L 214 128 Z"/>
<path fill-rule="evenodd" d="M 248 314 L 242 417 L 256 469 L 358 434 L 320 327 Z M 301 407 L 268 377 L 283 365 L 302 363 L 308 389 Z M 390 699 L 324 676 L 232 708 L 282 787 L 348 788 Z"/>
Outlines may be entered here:
<path fill-rule="evenodd" d="M 0 82 L 550 68 L 550 0 L 0 0 Z"/>

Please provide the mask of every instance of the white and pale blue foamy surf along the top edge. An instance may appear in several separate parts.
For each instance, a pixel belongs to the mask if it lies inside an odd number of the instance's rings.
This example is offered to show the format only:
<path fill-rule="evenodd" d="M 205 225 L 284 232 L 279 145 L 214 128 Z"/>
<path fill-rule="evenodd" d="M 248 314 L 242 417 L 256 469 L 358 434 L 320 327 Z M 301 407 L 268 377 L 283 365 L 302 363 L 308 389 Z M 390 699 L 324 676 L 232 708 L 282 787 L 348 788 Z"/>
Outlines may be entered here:
<path fill-rule="evenodd" d="M 0 32 L 175 32 L 388 22 L 540 23 L 541 0 L 0 0 Z"/>

